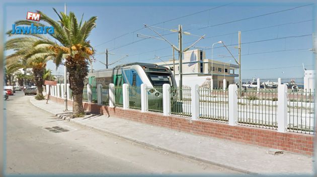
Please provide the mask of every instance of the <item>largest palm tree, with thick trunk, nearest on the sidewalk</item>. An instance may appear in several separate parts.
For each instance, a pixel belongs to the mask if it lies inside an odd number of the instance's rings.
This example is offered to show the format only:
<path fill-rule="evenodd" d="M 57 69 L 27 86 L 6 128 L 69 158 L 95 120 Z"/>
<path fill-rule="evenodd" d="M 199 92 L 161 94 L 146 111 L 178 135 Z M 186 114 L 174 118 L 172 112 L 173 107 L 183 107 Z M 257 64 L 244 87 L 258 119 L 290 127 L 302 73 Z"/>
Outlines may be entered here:
<path fill-rule="evenodd" d="M 83 107 L 83 89 L 84 79 L 88 75 L 88 64 L 90 57 L 94 54 L 94 50 L 87 40 L 91 31 L 96 27 L 97 17 L 91 17 L 83 23 L 83 16 L 78 23 L 74 13 L 68 15 L 60 12 L 57 13 L 59 21 L 56 22 L 44 13 L 41 14 L 41 20 L 54 27 L 54 34 L 50 34 L 52 38 L 57 40 L 54 43 L 47 43 L 46 40 L 40 39 L 36 45 L 40 46 L 38 50 L 45 49 L 54 52 L 53 60 L 56 67 L 64 64 L 69 72 L 69 84 L 73 96 L 73 115 L 75 117 L 84 115 Z M 17 21 L 16 26 L 31 25 L 44 27 L 43 23 L 35 23 L 27 20 Z M 8 33 L 10 35 L 10 33 Z M 41 35 L 29 34 L 35 38 Z M 35 54 L 35 53 L 34 53 Z M 37 56 L 47 57 L 47 54 L 37 53 Z M 52 56 L 52 55 L 51 55 Z M 65 59 L 64 62 L 62 60 Z"/>

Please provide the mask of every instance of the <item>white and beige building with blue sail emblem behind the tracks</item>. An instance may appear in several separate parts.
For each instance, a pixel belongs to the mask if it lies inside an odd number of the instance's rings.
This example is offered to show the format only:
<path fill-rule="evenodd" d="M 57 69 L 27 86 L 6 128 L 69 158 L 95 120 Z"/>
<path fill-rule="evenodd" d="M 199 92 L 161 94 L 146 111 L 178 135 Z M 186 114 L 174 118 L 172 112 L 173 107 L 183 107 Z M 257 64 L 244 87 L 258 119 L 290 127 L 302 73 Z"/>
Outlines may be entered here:
<path fill-rule="evenodd" d="M 173 59 L 168 62 L 156 64 L 173 67 Z M 239 76 L 238 74 L 235 74 L 235 69 L 239 68 L 238 65 L 206 59 L 205 52 L 199 49 L 184 52 L 182 66 L 184 86 L 194 86 L 196 84 L 202 85 L 207 78 L 211 78 L 212 76 L 214 88 L 222 88 L 223 79 L 226 80 L 226 87 L 228 87 L 229 84 L 234 84 L 234 77 Z M 174 71 L 175 79 L 177 84 L 179 84 L 178 59 L 175 59 Z"/>

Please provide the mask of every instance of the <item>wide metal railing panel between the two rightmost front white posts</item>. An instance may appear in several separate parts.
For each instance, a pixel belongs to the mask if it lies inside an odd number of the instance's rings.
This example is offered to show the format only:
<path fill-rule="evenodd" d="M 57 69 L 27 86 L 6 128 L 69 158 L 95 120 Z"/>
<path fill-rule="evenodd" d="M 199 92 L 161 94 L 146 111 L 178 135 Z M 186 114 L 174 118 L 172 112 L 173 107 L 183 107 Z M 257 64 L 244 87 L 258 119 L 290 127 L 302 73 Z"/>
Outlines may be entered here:
<path fill-rule="evenodd" d="M 238 99 L 239 124 L 276 129 L 277 97 L 277 92 L 242 92 Z"/>

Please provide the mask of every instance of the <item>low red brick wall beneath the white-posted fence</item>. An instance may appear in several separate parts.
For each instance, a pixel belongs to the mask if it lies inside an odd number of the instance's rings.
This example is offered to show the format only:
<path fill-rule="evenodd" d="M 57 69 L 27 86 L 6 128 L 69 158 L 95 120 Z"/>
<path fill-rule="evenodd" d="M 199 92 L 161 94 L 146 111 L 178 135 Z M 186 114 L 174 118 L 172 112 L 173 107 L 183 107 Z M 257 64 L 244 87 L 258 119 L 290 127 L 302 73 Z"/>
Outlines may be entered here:
<path fill-rule="evenodd" d="M 51 100 L 58 103 L 64 103 L 61 98 L 51 97 Z M 68 101 L 68 103 L 69 106 L 72 105 L 72 101 Z M 99 106 L 97 104 L 84 103 L 84 106 L 85 110 L 93 113 L 102 113 L 108 116 L 116 116 L 184 132 L 213 136 L 308 155 L 312 155 L 313 153 L 313 135 L 310 134 L 293 132 L 279 133 L 272 129 L 242 125 L 229 126 L 227 123 L 206 120 L 192 121 L 190 118 L 163 116 L 162 114 L 151 112 L 141 113 L 139 110 L 123 110 L 119 107 L 110 108 L 108 106 Z"/>

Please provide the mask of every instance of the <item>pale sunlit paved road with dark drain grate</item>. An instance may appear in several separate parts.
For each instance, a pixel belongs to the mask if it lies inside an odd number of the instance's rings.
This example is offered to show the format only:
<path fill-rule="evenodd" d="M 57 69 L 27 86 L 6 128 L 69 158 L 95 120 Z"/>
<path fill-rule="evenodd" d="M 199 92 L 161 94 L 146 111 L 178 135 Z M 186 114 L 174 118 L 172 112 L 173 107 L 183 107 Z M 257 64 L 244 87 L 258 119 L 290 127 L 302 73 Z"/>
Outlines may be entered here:
<path fill-rule="evenodd" d="M 7 174 L 238 173 L 60 120 L 29 98 L 17 91 L 5 102 Z M 45 129 L 55 126 L 69 131 Z"/>

